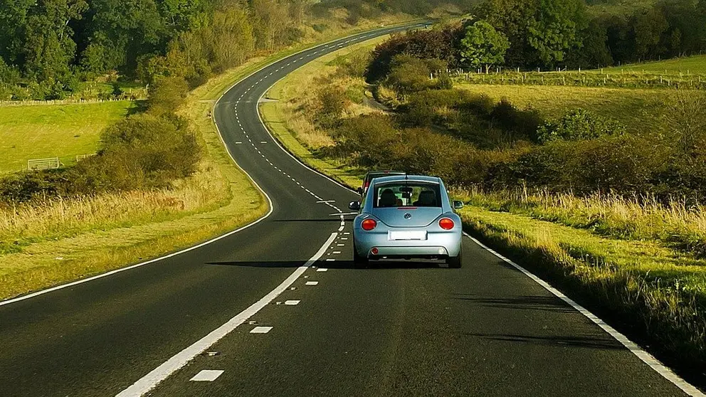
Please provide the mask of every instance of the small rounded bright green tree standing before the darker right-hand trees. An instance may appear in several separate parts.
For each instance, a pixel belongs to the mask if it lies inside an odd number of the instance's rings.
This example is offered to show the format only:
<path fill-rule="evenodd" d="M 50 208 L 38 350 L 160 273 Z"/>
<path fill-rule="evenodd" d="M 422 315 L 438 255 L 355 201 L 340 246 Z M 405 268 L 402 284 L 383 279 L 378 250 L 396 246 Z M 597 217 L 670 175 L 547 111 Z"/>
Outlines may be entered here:
<path fill-rule="evenodd" d="M 477 21 L 465 29 L 461 39 L 461 61 L 473 68 L 485 66 L 485 73 L 491 65 L 505 62 L 505 52 L 510 48 L 507 37 L 496 31 L 487 21 Z"/>

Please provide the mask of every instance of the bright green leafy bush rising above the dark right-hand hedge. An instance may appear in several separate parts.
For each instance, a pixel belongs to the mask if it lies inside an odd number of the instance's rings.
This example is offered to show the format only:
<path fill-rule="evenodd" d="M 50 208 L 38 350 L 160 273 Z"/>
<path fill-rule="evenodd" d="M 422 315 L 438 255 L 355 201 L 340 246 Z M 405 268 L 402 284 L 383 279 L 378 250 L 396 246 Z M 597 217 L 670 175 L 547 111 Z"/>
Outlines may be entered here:
<path fill-rule="evenodd" d="M 620 123 L 596 116 L 588 110 L 577 108 L 559 120 L 547 122 L 539 127 L 537 137 L 539 142 L 547 143 L 555 140 L 595 139 L 604 135 L 621 135 L 624 132 L 625 127 Z"/>

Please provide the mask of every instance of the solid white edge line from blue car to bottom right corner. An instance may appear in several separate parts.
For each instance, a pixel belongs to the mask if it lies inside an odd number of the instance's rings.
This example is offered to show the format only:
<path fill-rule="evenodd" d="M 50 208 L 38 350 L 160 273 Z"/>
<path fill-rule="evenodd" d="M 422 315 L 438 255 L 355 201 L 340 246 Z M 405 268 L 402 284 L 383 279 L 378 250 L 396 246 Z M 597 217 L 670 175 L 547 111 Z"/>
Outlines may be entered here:
<path fill-rule="evenodd" d="M 533 275 L 529 270 L 526 270 L 525 268 L 522 268 L 522 266 L 517 265 L 517 263 L 513 262 L 512 260 L 505 258 L 502 256 L 500 253 L 495 252 L 495 250 L 492 250 L 492 248 L 489 248 L 487 245 L 481 243 L 478 239 L 473 238 L 471 235 L 468 233 L 463 233 L 466 235 L 466 237 L 470 238 L 473 240 L 474 243 L 478 244 L 481 248 L 487 250 L 489 253 L 492 253 L 492 255 L 497 256 L 497 258 L 500 258 L 505 261 L 505 263 L 511 265 L 513 268 L 520 270 L 522 274 L 526 275 L 527 277 L 530 277 L 532 281 L 537 282 L 537 284 L 541 285 L 545 290 L 552 292 L 552 294 L 559 299 L 563 300 L 566 302 L 569 306 L 573 307 L 576 312 L 579 312 L 581 314 L 584 314 L 584 316 L 588 319 L 591 320 L 591 322 L 594 322 L 594 324 L 598 325 L 603 329 L 605 332 L 611 335 L 614 339 L 616 339 L 618 342 L 623 344 L 623 346 L 626 347 L 629 351 L 631 351 L 632 354 L 635 354 L 638 359 L 641 359 L 645 364 L 650 366 L 651 369 L 653 369 L 655 372 L 663 376 L 664 379 L 667 379 L 671 383 L 673 383 L 675 386 L 680 388 L 684 393 L 687 393 L 690 396 L 706 396 L 704 393 L 702 393 L 698 388 L 693 386 L 691 383 L 688 383 L 684 379 L 682 379 L 681 376 L 678 376 L 675 374 L 671 369 L 666 367 L 664 364 L 662 364 L 658 359 L 655 359 L 655 356 L 652 354 L 649 354 L 647 351 L 643 350 L 640 346 L 638 346 L 635 342 L 632 342 L 628 337 L 625 335 L 621 334 L 618 332 L 616 329 L 611 327 L 610 325 L 606 324 L 602 319 L 600 319 L 596 314 L 591 313 L 588 309 L 585 307 L 579 305 L 578 303 L 574 302 L 570 297 L 567 297 L 567 295 L 564 295 L 563 292 L 557 290 L 556 288 L 552 287 L 552 285 L 549 285 L 548 282 L 542 280 L 541 278 L 537 277 L 536 275 Z"/>

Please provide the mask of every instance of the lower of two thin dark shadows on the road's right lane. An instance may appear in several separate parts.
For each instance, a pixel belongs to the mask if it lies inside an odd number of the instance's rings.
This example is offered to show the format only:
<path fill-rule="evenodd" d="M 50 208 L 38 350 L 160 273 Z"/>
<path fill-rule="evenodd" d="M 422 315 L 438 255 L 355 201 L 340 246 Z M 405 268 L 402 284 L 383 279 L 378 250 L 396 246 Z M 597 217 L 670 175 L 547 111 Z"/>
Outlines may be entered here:
<path fill-rule="evenodd" d="M 601 350 L 619 350 L 625 349 L 615 339 L 608 337 L 569 337 L 569 336 L 536 336 L 536 335 L 518 335 L 518 334 L 474 334 L 465 333 L 469 337 L 480 337 L 483 339 L 498 341 L 498 342 L 517 342 L 525 344 L 538 344 L 542 346 L 561 346 L 561 347 L 584 347 L 587 349 Z"/>

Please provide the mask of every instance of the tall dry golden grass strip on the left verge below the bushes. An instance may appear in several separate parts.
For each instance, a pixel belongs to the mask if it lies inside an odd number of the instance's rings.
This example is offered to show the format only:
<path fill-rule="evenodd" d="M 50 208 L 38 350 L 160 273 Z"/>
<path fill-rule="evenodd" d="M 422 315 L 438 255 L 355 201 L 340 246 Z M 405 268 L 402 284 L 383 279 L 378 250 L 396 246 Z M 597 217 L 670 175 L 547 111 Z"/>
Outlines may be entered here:
<path fill-rule="evenodd" d="M 172 189 L 126 191 L 75 198 L 41 198 L 0 206 L 0 255 L 23 245 L 97 229 L 135 226 L 208 211 L 228 201 L 228 186 L 214 170 L 178 181 Z"/>

